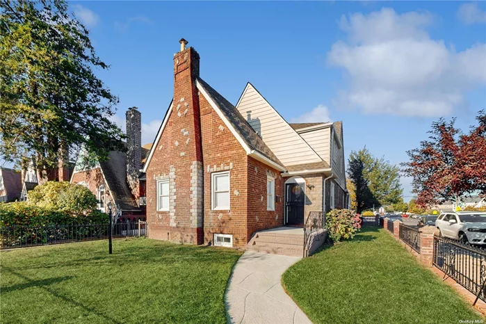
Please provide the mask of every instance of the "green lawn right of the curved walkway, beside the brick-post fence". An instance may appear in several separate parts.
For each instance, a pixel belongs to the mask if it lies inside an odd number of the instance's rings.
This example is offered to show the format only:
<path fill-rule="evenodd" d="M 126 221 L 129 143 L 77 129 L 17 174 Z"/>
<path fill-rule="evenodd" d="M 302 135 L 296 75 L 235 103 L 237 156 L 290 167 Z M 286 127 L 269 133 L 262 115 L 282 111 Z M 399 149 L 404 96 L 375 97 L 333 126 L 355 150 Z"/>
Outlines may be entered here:
<path fill-rule="evenodd" d="M 283 275 L 314 323 L 459 323 L 481 319 L 384 229 L 362 229 Z M 465 323 L 465 322 L 464 322 Z"/>

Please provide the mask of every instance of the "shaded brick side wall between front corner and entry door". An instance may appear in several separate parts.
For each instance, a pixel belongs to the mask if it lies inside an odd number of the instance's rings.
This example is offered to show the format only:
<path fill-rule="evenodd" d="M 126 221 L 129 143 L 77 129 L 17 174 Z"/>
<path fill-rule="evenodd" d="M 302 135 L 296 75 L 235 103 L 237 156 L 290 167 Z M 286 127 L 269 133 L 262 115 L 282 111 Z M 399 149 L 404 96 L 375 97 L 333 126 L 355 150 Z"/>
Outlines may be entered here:
<path fill-rule="evenodd" d="M 275 179 L 275 211 L 267 210 L 267 177 Z M 275 199 L 274 197 L 274 199 Z M 278 170 L 248 157 L 248 234 L 284 225 L 284 179 Z"/>

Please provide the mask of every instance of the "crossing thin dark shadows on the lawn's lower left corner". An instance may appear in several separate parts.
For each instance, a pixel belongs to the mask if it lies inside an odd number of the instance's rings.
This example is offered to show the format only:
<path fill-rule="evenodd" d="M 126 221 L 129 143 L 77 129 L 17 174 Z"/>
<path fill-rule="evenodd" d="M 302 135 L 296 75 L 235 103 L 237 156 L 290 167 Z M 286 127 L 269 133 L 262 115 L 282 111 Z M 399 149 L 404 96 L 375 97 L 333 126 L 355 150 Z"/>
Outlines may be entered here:
<path fill-rule="evenodd" d="M 57 291 L 56 289 L 49 288 L 49 284 L 54 284 L 56 282 L 61 282 L 63 280 L 66 280 L 66 279 L 63 279 L 63 278 L 70 279 L 72 276 L 51 278 L 51 279 L 47 279 L 47 280 L 31 280 L 26 275 L 22 275 L 21 273 L 18 273 L 17 271 L 14 271 L 10 268 L 6 268 L 6 267 L 3 266 L 2 270 L 8 271 L 9 273 L 12 273 L 13 275 L 16 275 L 17 277 L 22 278 L 23 280 L 25 280 L 27 282 L 26 284 L 14 285 L 14 286 L 7 287 L 6 289 L 10 288 L 10 291 L 17 290 L 17 289 L 12 289 L 12 287 L 15 287 L 15 286 L 25 286 L 23 288 L 27 288 L 27 286 L 38 286 L 40 289 L 44 289 L 45 291 L 51 293 L 51 295 L 54 295 L 54 297 L 60 298 L 60 299 L 64 300 L 65 302 L 70 302 L 72 305 L 74 305 L 76 307 L 80 307 L 80 308 L 84 309 L 85 311 L 89 311 L 92 314 L 96 314 L 97 316 L 101 316 L 106 321 L 110 321 L 112 323 L 120 323 L 120 322 L 116 321 L 114 318 L 111 318 L 110 316 L 106 316 L 105 314 L 100 313 L 99 311 L 97 311 L 97 309 L 94 309 L 92 307 L 88 307 L 88 306 L 84 305 L 83 303 L 78 302 L 78 301 L 70 298 L 69 296 L 61 293 L 60 291 Z M 48 282 L 49 280 L 51 281 L 50 283 L 38 284 L 39 282 L 46 282 L 46 281 Z M 1 294 L 5 293 L 6 289 L 2 289 Z"/>

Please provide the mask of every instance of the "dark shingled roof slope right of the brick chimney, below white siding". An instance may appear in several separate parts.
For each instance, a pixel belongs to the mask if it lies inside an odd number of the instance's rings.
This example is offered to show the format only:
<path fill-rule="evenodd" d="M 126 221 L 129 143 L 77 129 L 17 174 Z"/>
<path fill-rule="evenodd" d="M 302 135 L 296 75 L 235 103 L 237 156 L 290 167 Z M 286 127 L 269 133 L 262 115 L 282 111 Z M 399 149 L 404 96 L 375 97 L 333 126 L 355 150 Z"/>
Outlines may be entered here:
<path fill-rule="evenodd" d="M 200 86 L 202 86 L 202 88 L 205 90 L 207 95 L 211 97 L 214 104 L 218 106 L 219 110 L 225 116 L 226 120 L 230 124 L 232 124 L 234 131 L 236 131 L 238 136 L 243 139 L 245 144 L 248 145 L 250 149 L 264 154 L 264 156 L 266 156 L 274 163 L 283 165 L 279 161 L 279 159 L 277 159 L 277 156 L 273 154 L 271 149 L 269 149 L 268 146 L 264 143 L 264 140 L 262 140 L 257 135 L 257 133 L 255 133 L 254 129 L 252 129 L 250 124 L 248 124 L 248 122 L 245 120 L 245 118 L 243 118 L 241 113 L 235 106 L 233 106 L 233 104 L 228 102 L 225 97 L 222 97 L 222 95 L 220 95 L 218 91 L 211 88 L 211 86 L 209 86 L 209 84 L 202 79 L 198 78 L 197 81 L 199 82 Z"/>

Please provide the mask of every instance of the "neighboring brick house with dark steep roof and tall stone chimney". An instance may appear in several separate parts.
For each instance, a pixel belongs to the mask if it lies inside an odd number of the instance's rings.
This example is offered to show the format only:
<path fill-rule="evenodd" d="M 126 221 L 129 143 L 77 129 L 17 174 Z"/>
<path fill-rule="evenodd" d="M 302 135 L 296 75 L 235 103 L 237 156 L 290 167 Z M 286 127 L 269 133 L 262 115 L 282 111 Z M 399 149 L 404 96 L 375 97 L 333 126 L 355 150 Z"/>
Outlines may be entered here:
<path fill-rule="evenodd" d="M 148 149 L 141 145 L 142 116 L 135 108 L 127 111 L 127 153 L 108 152 L 106 161 L 90 158 L 81 148 L 72 184 L 86 186 L 99 201 L 98 209 L 108 213 L 108 202 L 120 221 L 145 220 L 145 174 L 140 172 Z"/>

